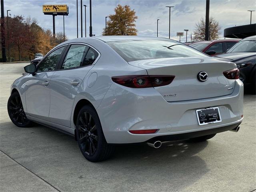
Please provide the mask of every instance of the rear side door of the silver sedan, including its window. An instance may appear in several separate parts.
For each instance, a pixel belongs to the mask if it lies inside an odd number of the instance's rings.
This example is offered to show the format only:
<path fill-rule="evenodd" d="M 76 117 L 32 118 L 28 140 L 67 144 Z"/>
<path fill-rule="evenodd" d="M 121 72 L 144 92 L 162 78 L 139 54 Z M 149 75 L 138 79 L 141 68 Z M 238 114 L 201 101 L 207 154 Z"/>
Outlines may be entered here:
<path fill-rule="evenodd" d="M 71 44 L 52 75 L 50 85 L 50 121 L 70 127 L 74 98 L 99 53 L 86 44 Z M 86 86 L 86 85 L 82 85 Z"/>

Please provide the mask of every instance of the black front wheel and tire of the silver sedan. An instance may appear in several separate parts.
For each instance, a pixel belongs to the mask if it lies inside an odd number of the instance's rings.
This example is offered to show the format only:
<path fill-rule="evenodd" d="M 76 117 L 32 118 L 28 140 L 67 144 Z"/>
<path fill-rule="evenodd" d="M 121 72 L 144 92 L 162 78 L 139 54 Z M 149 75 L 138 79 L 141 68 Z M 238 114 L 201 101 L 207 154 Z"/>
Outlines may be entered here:
<path fill-rule="evenodd" d="M 14 92 L 8 99 L 8 115 L 11 121 L 18 127 L 30 127 L 32 121 L 28 120 L 23 109 L 22 100 L 18 92 Z"/>

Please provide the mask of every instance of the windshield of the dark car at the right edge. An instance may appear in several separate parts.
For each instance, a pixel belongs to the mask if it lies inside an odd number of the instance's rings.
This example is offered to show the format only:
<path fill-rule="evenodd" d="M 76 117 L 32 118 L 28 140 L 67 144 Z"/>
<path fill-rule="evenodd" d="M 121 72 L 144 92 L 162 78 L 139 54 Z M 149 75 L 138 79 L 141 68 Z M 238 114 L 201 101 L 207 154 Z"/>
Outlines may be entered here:
<path fill-rule="evenodd" d="M 244 40 L 235 44 L 227 53 L 256 52 L 256 41 Z"/>

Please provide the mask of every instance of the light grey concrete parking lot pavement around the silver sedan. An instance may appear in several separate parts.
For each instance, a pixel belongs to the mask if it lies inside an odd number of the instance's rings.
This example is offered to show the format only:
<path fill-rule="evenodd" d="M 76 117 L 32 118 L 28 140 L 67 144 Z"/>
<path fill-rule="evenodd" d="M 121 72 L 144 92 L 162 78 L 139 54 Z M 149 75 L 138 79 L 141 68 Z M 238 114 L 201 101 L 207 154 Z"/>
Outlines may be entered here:
<path fill-rule="evenodd" d="M 240 131 L 201 143 L 118 146 L 110 160 L 84 159 L 73 137 L 18 128 L 7 114 L 10 85 L 28 63 L 0 64 L 0 191 L 252 192 L 256 190 L 256 98 L 244 95 Z"/>

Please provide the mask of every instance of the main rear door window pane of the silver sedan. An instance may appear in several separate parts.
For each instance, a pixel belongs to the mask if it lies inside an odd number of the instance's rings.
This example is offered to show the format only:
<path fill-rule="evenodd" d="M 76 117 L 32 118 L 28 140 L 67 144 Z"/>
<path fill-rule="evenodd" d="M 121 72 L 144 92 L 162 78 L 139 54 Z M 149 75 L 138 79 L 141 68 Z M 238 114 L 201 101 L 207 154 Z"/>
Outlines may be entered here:
<path fill-rule="evenodd" d="M 83 66 L 82 61 L 86 56 L 89 48 L 90 47 L 81 44 L 71 45 L 61 66 L 61 69 L 70 69 Z"/>

